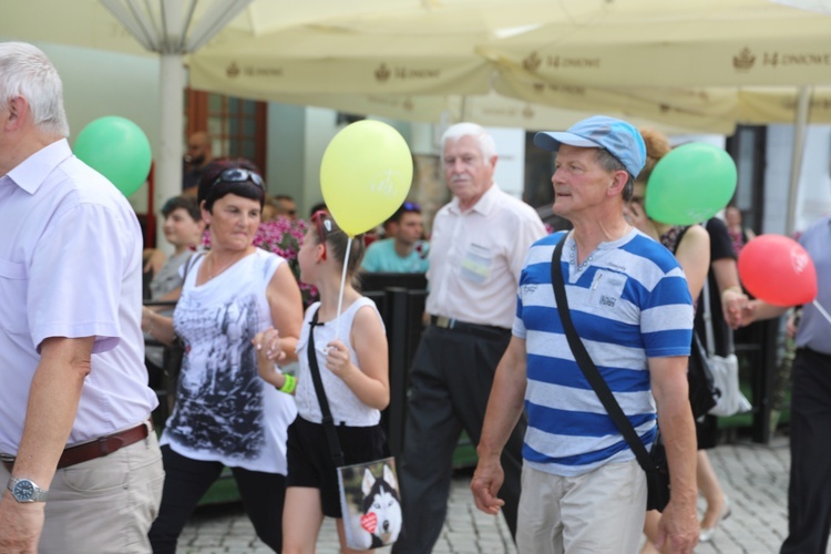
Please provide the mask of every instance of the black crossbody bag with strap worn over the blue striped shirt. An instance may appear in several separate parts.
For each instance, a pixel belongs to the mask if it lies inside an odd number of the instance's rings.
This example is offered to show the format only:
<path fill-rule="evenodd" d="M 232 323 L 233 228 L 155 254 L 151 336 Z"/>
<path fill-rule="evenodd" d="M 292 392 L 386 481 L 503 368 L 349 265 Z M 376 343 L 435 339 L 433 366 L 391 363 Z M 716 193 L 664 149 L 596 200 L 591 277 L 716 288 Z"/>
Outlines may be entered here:
<path fill-rule="evenodd" d="M 577 331 L 574 329 L 572 315 L 568 310 L 568 299 L 565 295 L 563 271 L 560 265 L 560 258 L 563 255 L 563 245 L 565 244 L 567 236 L 567 234 L 563 235 L 563 238 L 557 243 L 556 248 L 554 248 L 554 254 L 551 259 L 551 284 L 552 287 L 554 287 L 554 298 L 557 301 L 557 314 L 560 314 L 560 319 L 563 322 L 565 337 L 568 339 L 568 346 L 572 348 L 572 353 L 574 355 L 574 359 L 579 366 L 581 371 L 583 371 L 586 380 L 592 384 L 592 388 L 601 399 L 601 402 L 612 418 L 612 421 L 617 425 L 620 434 L 626 439 L 626 442 L 629 444 L 629 448 L 635 454 L 640 468 L 646 472 L 646 509 L 663 512 L 669 503 L 669 465 L 667 464 L 664 443 L 660 440 L 660 430 L 658 430 L 658 433 L 655 437 L 652 451 L 647 452 L 646 447 L 644 447 L 640 438 L 635 432 L 635 428 L 632 427 L 632 423 L 620 409 L 620 404 L 615 400 L 615 396 L 603 379 L 603 376 L 601 376 L 597 366 L 592 361 L 592 358 L 586 351 L 586 347 L 583 345 L 583 341 L 577 336 Z"/>

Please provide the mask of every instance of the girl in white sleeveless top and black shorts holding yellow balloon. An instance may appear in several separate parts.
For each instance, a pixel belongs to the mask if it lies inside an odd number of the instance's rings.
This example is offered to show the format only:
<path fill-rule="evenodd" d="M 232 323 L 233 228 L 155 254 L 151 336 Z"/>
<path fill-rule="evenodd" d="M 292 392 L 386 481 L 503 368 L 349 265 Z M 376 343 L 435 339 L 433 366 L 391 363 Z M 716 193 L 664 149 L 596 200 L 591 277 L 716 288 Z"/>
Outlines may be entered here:
<path fill-rule="evenodd" d="M 346 259 L 350 240 L 351 250 Z M 380 427 L 381 410 L 390 401 L 387 336 L 375 302 L 352 285 L 362 255 L 360 237 L 348 237 L 325 212 L 312 215 L 297 259 L 300 280 L 317 287 L 320 301 L 306 311 L 297 343 L 298 417 L 288 430 L 284 553 L 315 552 L 324 516 L 337 519 L 341 552 L 353 552 L 346 544 L 338 475 L 310 373 L 309 334 L 314 334 L 314 356 L 346 465 L 387 455 L 386 435 Z M 338 314 L 345 264 L 347 279 Z M 263 379 L 275 387 L 286 387 L 286 377 L 274 370 L 270 360 L 279 362 L 294 350 L 294 343 L 274 330 L 258 335 L 255 343 L 259 347 Z"/>

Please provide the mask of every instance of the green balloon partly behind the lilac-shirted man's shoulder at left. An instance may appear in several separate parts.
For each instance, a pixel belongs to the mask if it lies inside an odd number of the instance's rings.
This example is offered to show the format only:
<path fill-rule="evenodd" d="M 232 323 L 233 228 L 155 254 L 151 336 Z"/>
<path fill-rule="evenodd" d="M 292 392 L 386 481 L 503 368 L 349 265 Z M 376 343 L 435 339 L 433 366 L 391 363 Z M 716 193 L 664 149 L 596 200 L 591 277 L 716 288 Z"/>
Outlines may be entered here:
<path fill-rule="evenodd" d="M 86 125 L 75 140 L 75 155 L 101 173 L 124 196 L 138 189 L 150 174 L 150 141 L 138 125 L 107 115 Z"/>

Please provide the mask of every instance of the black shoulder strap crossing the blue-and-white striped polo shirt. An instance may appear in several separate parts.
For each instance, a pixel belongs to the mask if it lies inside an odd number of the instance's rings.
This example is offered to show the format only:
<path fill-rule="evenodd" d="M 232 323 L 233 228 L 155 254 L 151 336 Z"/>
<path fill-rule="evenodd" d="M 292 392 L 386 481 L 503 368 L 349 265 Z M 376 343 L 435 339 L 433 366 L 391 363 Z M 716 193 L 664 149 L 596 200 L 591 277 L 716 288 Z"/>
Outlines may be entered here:
<path fill-rule="evenodd" d="M 560 320 L 563 322 L 565 337 L 568 339 L 568 346 L 572 348 L 572 353 L 574 353 L 574 359 L 577 361 L 579 369 L 583 371 L 586 380 L 592 384 L 592 388 L 601 399 L 603 407 L 606 408 L 612 421 L 617 425 L 620 434 L 623 434 L 626 442 L 629 443 L 629 448 L 635 453 L 635 458 L 637 458 L 640 466 L 644 471 L 655 471 L 655 463 L 646 451 L 646 447 L 644 447 L 643 441 L 635 432 L 635 428 L 632 427 L 632 423 L 620 409 L 620 404 L 615 400 L 615 396 L 603 379 L 603 376 L 601 376 L 597 366 L 592 361 L 592 358 L 586 351 L 586 347 L 583 345 L 583 341 L 577 336 L 577 331 L 574 329 L 572 314 L 568 310 L 568 299 L 565 296 L 563 268 L 560 263 L 563 255 L 563 245 L 565 244 L 567 236 L 568 233 L 563 235 L 563 238 L 557 243 L 556 248 L 554 248 L 554 254 L 551 258 L 551 284 L 552 287 L 554 287 L 554 298 L 557 301 L 557 314 L 560 314 Z"/>

